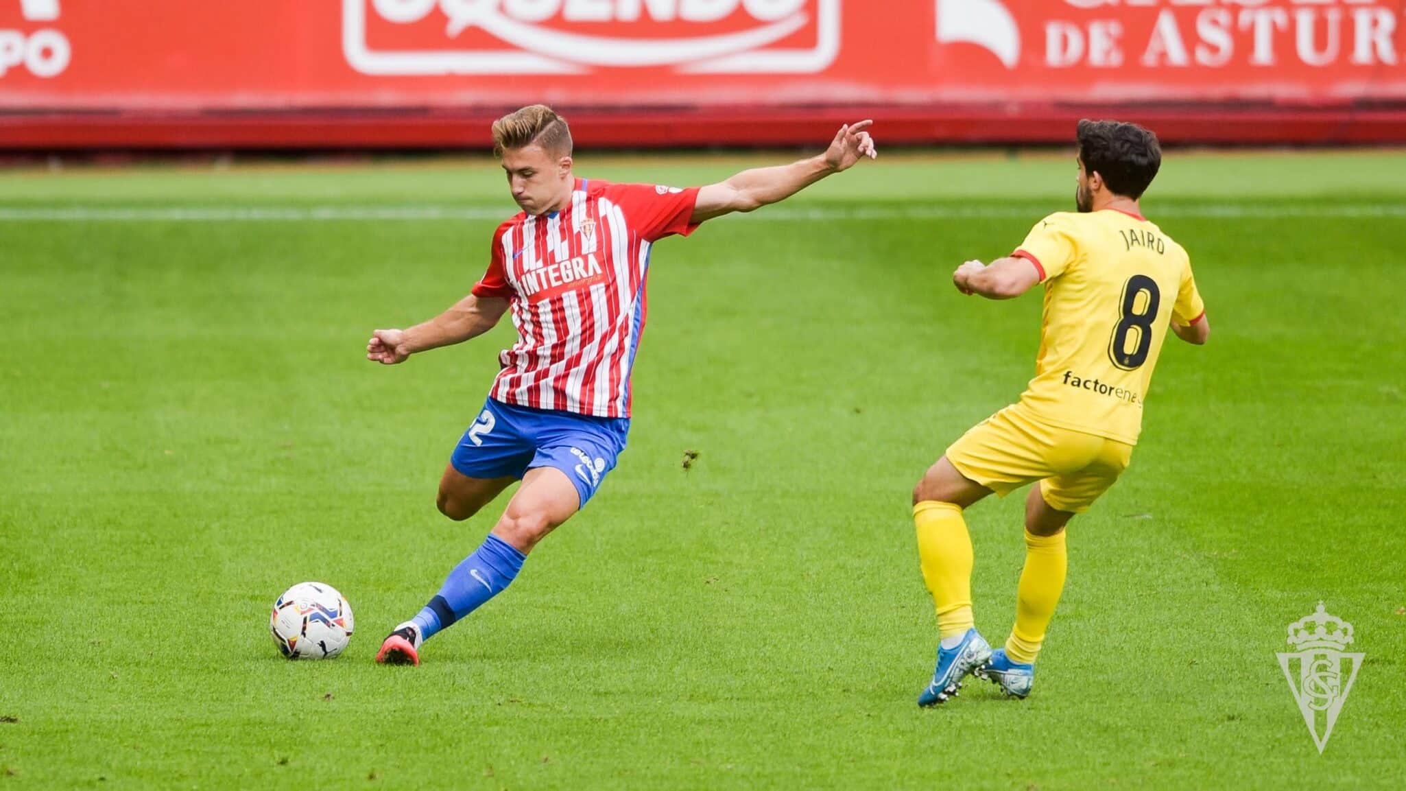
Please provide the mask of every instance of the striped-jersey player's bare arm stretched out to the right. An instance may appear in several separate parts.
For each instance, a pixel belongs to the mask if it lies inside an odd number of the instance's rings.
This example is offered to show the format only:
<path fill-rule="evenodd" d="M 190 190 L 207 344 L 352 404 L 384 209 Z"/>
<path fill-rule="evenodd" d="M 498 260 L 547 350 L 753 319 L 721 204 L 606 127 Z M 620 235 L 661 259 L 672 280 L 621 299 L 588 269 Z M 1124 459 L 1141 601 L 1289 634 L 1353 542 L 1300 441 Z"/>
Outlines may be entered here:
<path fill-rule="evenodd" d="M 872 125 L 873 121 L 859 121 L 841 127 L 830 149 L 818 156 L 776 167 L 742 170 L 725 182 L 700 189 L 689 222 L 697 224 L 734 211 L 755 211 L 786 200 L 831 173 L 853 167 L 860 158 L 877 158 L 875 141 L 865 131 Z"/>

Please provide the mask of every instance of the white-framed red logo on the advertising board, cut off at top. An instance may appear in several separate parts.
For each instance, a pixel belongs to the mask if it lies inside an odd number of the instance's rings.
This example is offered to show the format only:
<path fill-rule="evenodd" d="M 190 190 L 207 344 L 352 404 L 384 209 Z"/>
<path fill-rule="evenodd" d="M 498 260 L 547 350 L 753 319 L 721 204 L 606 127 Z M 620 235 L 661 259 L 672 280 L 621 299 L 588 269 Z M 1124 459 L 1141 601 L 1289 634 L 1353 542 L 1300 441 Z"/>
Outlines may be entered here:
<path fill-rule="evenodd" d="M 839 0 L 343 0 L 366 75 L 815 73 L 839 52 Z"/>

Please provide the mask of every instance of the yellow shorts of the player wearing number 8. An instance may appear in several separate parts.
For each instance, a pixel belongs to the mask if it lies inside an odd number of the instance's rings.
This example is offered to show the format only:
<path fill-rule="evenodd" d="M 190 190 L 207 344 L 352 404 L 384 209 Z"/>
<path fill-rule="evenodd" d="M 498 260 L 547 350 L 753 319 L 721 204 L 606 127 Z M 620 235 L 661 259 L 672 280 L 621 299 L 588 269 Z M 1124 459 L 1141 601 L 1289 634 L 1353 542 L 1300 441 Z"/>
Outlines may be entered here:
<path fill-rule="evenodd" d="M 963 434 L 946 456 L 1001 497 L 1040 481 L 1050 508 L 1083 514 L 1128 469 L 1132 453 L 1132 445 L 1043 424 L 1014 404 Z"/>

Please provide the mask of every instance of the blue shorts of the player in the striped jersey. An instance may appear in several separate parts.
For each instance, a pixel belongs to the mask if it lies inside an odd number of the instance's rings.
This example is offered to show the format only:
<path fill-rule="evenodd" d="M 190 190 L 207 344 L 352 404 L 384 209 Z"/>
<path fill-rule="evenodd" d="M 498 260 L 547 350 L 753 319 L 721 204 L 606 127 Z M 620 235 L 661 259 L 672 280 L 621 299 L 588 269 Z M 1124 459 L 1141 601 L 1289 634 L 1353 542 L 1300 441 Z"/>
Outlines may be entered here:
<path fill-rule="evenodd" d="M 630 432 L 630 418 L 595 418 L 533 410 L 489 398 L 450 456 L 471 479 L 522 479 L 536 467 L 555 467 L 576 484 L 581 507 L 614 469 Z"/>

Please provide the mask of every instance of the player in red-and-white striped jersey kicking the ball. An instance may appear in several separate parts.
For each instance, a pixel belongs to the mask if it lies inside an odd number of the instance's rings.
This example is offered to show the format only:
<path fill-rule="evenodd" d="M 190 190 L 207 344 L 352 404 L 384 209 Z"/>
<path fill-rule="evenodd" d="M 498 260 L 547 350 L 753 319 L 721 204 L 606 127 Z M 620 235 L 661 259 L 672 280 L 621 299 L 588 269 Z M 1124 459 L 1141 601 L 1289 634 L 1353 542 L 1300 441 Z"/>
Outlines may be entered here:
<path fill-rule="evenodd" d="M 484 543 L 385 639 L 377 662 L 419 664 L 423 642 L 506 588 L 533 546 L 616 466 L 630 429 L 630 370 L 654 243 L 875 158 L 869 125 L 842 127 L 818 156 L 676 189 L 578 179 L 567 121 L 546 106 L 494 122 L 494 149 L 522 211 L 498 227 L 488 272 L 470 296 L 409 329 L 377 329 L 366 356 L 402 363 L 482 335 L 509 312 L 517 342 L 499 355 L 488 400 L 444 469 L 439 508 L 467 519 L 513 481 L 522 487 Z"/>

